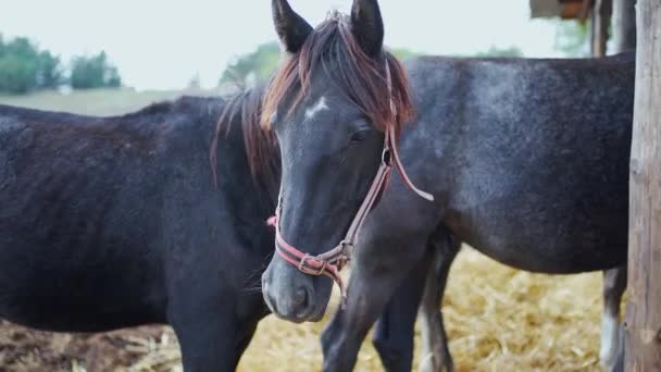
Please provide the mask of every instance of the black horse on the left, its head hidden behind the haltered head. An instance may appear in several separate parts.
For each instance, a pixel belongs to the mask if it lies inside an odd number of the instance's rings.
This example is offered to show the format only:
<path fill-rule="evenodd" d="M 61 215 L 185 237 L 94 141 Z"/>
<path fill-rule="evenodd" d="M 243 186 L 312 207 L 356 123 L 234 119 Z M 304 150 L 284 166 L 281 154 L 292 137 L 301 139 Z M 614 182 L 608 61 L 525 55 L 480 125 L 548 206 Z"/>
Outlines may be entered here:
<path fill-rule="evenodd" d="M 0 319 L 167 323 L 186 371 L 234 370 L 269 313 L 259 278 L 278 179 L 253 177 L 246 151 L 276 149 L 245 141 L 261 135 L 246 111 L 260 99 L 184 97 L 115 117 L 1 106 Z"/>

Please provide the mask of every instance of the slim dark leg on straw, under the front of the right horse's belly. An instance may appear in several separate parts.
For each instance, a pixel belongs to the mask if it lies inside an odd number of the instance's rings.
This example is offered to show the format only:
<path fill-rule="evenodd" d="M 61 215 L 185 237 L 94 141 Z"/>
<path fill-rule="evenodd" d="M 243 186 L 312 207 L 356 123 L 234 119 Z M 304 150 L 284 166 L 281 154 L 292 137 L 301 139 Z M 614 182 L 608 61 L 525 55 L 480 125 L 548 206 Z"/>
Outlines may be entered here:
<path fill-rule="evenodd" d="M 420 307 L 422 325 L 422 357 L 420 371 L 454 371 L 452 356 L 448 349 L 448 336 L 440 309 L 450 265 L 457 257 L 461 241 L 449 234 L 437 234 L 429 244 L 434 245 L 435 257 L 427 273 L 425 292 Z"/>

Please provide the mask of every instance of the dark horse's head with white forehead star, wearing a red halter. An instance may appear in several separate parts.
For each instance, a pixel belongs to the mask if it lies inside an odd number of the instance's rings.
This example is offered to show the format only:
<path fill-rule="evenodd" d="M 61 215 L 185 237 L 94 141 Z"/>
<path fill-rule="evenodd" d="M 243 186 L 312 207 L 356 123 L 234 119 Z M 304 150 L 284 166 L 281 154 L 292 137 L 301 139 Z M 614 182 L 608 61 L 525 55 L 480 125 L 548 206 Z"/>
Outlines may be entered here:
<path fill-rule="evenodd" d="M 283 162 L 279 255 L 262 277 L 264 298 L 282 318 L 315 321 L 330 295 L 327 276 L 338 280 L 372 207 L 364 200 L 387 183 L 384 146 L 412 108 L 403 69 L 384 51 L 376 0 L 354 0 L 349 16 L 332 13 L 314 29 L 286 0 L 273 0 L 273 18 L 287 55 L 262 114 Z"/>

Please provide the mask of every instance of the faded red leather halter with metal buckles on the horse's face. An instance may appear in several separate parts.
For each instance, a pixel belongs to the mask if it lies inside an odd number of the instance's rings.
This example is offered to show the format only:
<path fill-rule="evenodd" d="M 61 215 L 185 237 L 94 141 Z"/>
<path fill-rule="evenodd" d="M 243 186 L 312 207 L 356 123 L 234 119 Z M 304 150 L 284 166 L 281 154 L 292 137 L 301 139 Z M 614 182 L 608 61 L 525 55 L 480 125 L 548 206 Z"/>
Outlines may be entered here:
<path fill-rule="evenodd" d="M 390 113 L 392 119 L 392 124 L 397 120 L 397 108 L 395 107 L 395 101 L 392 100 L 392 80 L 390 77 L 390 69 L 388 66 L 388 61 L 386 60 L 386 82 L 388 88 L 388 96 L 390 100 Z M 372 185 L 370 186 L 370 190 L 365 196 L 365 199 L 361 203 L 349 230 L 347 231 L 347 235 L 345 238 L 333 249 L 326 251 L 325 253 L 319 256 L 311 256 L 305 253 L 292 245 L 288 244 L 280 233 L 279 228 L 279 216 L 280 216 L 280 206 L 282 200 L 278 199 L 277 208 L 275 210 L 275 215 L 269 219 L 269 224 L 275 227 L 275 248 L 276 252 L 287 262 L 295 265 L 299 271 L 304 274 L 320 276 L 325 275 L 330 277 L 337 285 L 339 286 L 340 294 L 342 297 L 341 308 L 345 308 L 346 299 L 347 299 L 347 290 L 345 287 L 345 283 L 339 275 L 339 271 L 345 266 L 345 264 L 351 260 L 351 256 L 354 249 L 356 238 L 360 233 L 360 230 L 365 222 L 365 218 L 370 213 L 377 200 L 379 200 L 381 195 L 388 187 L 390 173 L 392 172 L 392 163 L 395 163 L 395 168 L 399 172 L 404 182 L 404 185 L 409 187 L 413 193 L 417 194 L 420 197 L 433 201 L 434 196 L 428 193 L 425 193 L 411 182 L 407 172 L 404 171 L 403 165 L 399 159 L 399 152 L 397 151 L 397 142 L 395 138 L 395 125 L 388 126 L 386 131 L 385 139 L 384 139 L 384 150 L 382 152 L 381 165 L 378 166 L 378 171 L 372 181 Z"/>

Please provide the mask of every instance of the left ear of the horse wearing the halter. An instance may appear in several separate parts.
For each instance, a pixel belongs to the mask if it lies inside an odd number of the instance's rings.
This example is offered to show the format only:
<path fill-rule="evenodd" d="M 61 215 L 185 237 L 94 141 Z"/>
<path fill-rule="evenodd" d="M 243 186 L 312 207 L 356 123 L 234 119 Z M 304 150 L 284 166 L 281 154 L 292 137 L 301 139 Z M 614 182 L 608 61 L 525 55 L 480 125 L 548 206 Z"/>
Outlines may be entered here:
<path fill-rule="evenodd" d="M 312 33 L 312 26 L 291 9 L 287 0 L 273 0 L 272 5 L 275 32 L 285 50 L 294 54 Z"/>

